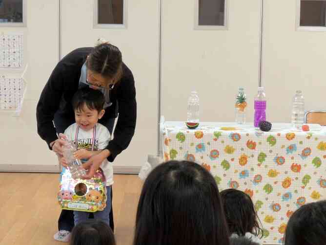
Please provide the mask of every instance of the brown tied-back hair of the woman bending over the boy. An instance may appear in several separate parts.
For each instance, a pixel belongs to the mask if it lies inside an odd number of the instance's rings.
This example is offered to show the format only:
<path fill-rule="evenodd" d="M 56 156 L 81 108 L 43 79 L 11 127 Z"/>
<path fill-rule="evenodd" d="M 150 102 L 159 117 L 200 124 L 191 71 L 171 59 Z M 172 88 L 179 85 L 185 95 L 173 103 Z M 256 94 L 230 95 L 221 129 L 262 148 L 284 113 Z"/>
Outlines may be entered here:
<path fill-rule="evenodd" d="M 88 56 L 86 66 L 117 83 L 122 77 L 122 54 L 118 47 L 103 43 L 94 47 Z"/>

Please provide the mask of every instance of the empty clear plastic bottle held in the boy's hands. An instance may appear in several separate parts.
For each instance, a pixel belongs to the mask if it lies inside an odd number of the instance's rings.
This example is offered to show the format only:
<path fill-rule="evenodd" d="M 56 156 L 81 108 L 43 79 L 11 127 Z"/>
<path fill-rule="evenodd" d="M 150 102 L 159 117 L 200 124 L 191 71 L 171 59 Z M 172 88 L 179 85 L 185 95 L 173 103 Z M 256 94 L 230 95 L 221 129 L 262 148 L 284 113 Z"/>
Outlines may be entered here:
<path fill-rule="evenodd" d="M 68 169 L 71 173 L 71 177 L 74 179 L 81 178 L 86 175 L 86 170 L 82 168 L 81 160 L 74 157 L 76 147 L 73 141 L 66 140 L 66 143 L 62 146 L 62 153 L 64 158 L 68 162 Z"/>

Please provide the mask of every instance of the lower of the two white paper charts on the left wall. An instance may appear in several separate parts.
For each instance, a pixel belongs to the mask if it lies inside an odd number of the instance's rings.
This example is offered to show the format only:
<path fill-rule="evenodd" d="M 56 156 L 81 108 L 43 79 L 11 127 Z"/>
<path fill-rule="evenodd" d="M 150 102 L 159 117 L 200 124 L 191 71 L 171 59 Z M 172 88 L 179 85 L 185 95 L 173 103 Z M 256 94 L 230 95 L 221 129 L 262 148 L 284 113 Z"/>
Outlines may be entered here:
<path fill-rule="evenodd" d="M 0 75 L 0 110 L 20 111 L 24 95 L 22 78 Z"/>

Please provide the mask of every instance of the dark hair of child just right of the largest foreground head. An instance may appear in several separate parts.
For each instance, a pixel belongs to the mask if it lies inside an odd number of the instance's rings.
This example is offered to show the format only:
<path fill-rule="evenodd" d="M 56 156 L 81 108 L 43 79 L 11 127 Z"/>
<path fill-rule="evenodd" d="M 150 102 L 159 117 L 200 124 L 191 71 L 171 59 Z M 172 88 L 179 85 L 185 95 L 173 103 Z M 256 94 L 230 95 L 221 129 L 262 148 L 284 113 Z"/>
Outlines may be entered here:
<path fill-rule="evenodd" d="M 226 189 L 220 194 L 230 233 L 245 236 L 246 232 L 250 232 L 256 236 L 263 236 L 262 223 L 247 194 L 236 189 Z"/>

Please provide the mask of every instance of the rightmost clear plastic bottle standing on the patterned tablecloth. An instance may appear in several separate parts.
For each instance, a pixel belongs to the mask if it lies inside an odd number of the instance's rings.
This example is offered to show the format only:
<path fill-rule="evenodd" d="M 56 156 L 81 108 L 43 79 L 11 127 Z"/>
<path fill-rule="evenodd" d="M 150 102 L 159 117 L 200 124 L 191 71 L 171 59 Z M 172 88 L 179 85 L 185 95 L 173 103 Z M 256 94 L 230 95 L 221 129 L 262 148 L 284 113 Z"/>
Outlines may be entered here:
<path fill-rule="evenodd" d="M 292 126 L 301 129 L 305 121 L 305 99 L 301 90 L 297 90 L 292 100 Z"/>

